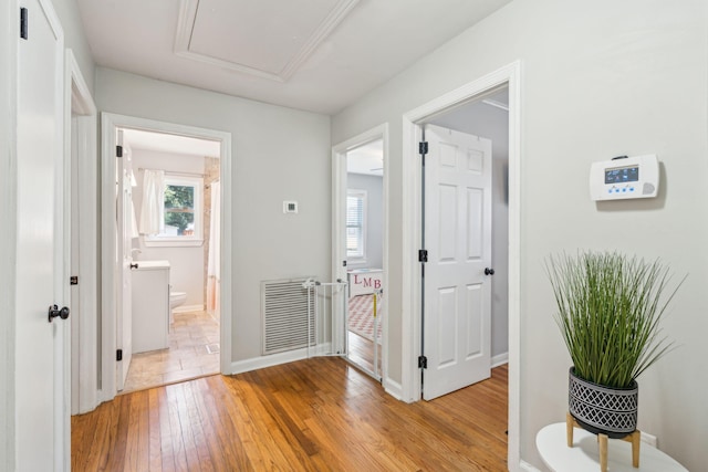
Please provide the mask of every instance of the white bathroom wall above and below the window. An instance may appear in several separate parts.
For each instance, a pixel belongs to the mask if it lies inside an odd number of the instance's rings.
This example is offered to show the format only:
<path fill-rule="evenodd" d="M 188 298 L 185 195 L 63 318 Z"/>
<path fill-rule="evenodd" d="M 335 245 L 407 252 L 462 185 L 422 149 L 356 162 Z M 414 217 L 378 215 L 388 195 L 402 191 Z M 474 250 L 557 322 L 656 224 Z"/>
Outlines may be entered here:
<path fill-rule="evenodd" d="M 145 172 L 139 169 L 163 169 L 167 172 L 204 174 L 204 156 L 170 154 L 147 149 L 133 149 L 133 171 L 137 187 L 133 188 L 133 203 L 139 221 L 143 208 L 143 181 Z M 205 241 L 208 244 L 209 241 Z M 134 240 L 134 248 L 140 250 L 136 259 L 143 261 L 169 261 L 169 284 L 174 292 L 186 292 L 184 306 L 204 306 L 205 261 L 204 247 L 146 247 L 144 238 Z"/>

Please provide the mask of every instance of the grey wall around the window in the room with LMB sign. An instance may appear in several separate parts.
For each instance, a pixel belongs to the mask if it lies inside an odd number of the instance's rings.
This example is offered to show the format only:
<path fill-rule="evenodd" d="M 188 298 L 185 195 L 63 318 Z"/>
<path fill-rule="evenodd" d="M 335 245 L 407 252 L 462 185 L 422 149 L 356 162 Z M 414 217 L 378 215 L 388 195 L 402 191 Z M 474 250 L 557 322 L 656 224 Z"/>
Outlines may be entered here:
<path fill-rule="evenodd" d="M 347 174 L 348 189 L 366 190 L 366 261 L 347 260 L 350 269 L 382 269 L 384 266 L 384 178 L 363 174 Z"/>

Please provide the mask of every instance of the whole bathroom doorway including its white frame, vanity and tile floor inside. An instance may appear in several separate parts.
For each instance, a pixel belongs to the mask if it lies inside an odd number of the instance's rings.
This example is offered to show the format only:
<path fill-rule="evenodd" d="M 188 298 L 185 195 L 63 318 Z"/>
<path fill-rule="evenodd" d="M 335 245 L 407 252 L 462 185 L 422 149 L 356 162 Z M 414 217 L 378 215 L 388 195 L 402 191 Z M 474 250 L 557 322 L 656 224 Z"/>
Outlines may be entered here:
<path fill-rule="evenodd" d="M 231 274 L 230 134 L 112 114 L 102 122 L 104 400 L 229 371 L 231 297 L 220 287 Z M 152 283 L 162 295 L 145 291 Z M 143 304 L 155 305 L 133 316 Z"/>

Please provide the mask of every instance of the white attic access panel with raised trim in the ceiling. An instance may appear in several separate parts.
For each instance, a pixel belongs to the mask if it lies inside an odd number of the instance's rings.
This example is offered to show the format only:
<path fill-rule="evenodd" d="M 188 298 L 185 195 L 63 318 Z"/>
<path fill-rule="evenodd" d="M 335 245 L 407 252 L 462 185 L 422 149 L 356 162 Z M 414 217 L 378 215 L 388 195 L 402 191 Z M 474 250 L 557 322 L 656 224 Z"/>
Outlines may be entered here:
<path fill-rule="evenodd" d="M 285 82 L 358 0 L 183 0 L 175 52 Z"/>

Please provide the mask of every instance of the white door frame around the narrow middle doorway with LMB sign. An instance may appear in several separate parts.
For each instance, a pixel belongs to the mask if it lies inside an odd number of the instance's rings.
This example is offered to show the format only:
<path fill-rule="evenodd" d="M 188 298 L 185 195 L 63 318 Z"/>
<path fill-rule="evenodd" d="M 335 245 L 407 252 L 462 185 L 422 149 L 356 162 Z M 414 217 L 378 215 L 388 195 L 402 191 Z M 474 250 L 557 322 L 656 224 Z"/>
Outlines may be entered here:
<path fill-rule="evenodd" d="M 354 136 L 343 143 L 332 147 L 332 277 L 334 280 L 346 281 L 346 268 L 343 268 L 341 261 L 346 259 L 345 233 L 346 225 L 343 223 L 346 203 L 346 154 L 360 146 L 376 139 L 383 140 L 384 150 L 384 241 L 383 241 L 383 271 L 384 281 L 388 280 L 388 214 L 389 214 L 389 171 L 388 171 L 388 123 L 375 126 L 360 135 Z M 384 282 L 386 283 L 386 282 Z M 383 297 L 382 310 L 385 312 L 387 297 Z M 381 376 L 384 388 L 387 391 L 398 391 L 397 382 L 388 378 L 388 316 L 384 316 L 382 324 L 382 345 L 381 345 Z M 348 353 L 347 353 L 348 355 Z"/>

